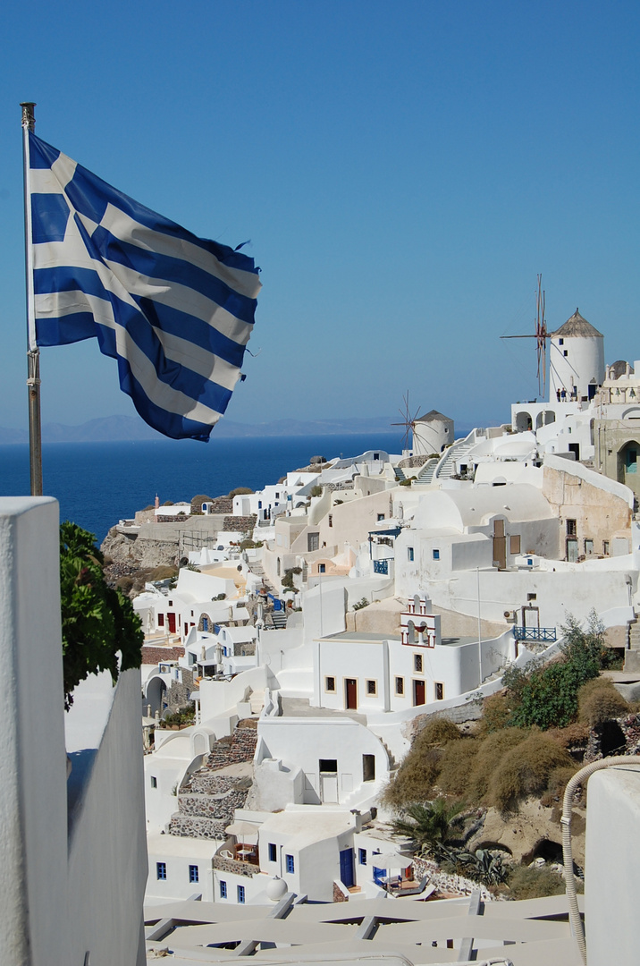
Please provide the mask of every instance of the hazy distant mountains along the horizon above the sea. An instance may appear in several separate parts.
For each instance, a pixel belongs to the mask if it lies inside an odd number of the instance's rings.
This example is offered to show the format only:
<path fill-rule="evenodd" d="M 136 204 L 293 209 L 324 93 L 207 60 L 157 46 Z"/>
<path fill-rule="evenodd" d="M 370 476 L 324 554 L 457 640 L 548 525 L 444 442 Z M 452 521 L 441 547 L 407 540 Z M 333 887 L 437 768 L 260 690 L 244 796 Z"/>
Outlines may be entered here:
<path fill-rule="evenodd" d="M 276 419 L 268 423 L 238 423 L 221 419 L 213 436 L 241 439 L 260 436 L 340 436 L 364 433 L 391 433 L 393 416 L 368 416 L 354 419 Z M 399 434 L 400 435 L 400 434 Z M 46 423 L 43 442 L 118 442 L 121 440 L 163 440 L 150 426 L 135 416 L 103 416 L 79 426 Z M 26 443 L 26 430 L 0 427 L 0 444 Z"/>

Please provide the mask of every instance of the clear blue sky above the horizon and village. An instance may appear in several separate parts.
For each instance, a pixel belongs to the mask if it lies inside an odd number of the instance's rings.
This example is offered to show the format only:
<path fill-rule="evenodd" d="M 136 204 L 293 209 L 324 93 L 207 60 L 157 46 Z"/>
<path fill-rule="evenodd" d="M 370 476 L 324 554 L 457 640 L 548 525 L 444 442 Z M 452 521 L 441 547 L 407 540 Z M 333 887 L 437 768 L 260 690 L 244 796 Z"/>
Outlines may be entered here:
<path fill-rule="evenodd" d="M 33 0 L 0 58 L 0 425 L 26 424 L 21 138 L 263 270 L 229 419 L 509 418 L 579 306 L 640 357 L 640 6 Z M 42 351 L 44 422 L 134 410 L 94 341 Z"/>

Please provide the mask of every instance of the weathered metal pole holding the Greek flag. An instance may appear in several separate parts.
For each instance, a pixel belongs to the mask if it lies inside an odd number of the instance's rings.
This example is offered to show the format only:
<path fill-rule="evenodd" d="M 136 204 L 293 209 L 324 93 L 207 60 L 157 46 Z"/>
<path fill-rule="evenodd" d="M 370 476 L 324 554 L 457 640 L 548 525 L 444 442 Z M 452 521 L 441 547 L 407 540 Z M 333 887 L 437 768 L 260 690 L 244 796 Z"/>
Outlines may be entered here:
<path fill-rule="evenodd" d="M 27 387 L 29 391 L 29 469 L 31 496 L 42 497 L 42 429 L 40 415 L 40 349 L 36 342 L 34 266 L 31 232 L 31 183 L 29 131 L 36 127 L 35 101 L 25 100 L 22 108 L 22 162 L 24 166 L 24 262 L 27 283 Z"/>

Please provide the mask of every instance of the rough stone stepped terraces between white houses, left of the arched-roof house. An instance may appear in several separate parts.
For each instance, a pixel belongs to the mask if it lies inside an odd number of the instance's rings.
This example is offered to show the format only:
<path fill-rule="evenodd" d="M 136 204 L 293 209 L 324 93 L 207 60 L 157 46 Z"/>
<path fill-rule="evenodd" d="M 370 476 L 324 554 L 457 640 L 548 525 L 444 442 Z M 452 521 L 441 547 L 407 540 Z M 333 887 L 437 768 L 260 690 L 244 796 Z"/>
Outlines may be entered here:
<path fill-rule="evenodd" d="M 202 768 L 194 772 L 178 795 L 169 835 L 181 838 L 224 838 L 234 812 L 244 806 L 250 776 L 219 774 L 227 765 L 253 760 L 258 731 L 239 723 L 233 735 L 216 741 Z"/>

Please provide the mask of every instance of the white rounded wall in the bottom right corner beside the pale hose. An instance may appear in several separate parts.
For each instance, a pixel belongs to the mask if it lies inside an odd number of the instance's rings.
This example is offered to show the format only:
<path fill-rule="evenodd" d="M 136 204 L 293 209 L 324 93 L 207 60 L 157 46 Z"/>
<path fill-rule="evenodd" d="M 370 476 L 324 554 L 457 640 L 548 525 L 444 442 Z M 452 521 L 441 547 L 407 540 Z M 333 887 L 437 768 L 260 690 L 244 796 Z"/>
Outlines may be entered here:
<path fill-rule="evenodd" d="M 589 779 L 585 848 L 589 966 L 636 966 L 640 893 L 640 768 L 620 765 Z"/>

